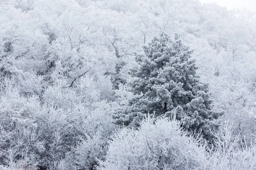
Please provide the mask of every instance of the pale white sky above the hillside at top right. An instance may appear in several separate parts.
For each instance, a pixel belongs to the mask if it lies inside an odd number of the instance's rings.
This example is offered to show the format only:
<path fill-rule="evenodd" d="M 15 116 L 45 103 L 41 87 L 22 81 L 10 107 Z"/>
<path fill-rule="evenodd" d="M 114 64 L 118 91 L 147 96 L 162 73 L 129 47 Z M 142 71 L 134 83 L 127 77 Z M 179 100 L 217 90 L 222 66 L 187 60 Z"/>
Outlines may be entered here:
<path fill-rule="evenodd" d="M 245 6 L 246 8 L 256 11 L 256 0 L 200 0 L 201 3 L 218 3 L 221 6 L 226 6 L 228 9 L 240 8 Z"/>

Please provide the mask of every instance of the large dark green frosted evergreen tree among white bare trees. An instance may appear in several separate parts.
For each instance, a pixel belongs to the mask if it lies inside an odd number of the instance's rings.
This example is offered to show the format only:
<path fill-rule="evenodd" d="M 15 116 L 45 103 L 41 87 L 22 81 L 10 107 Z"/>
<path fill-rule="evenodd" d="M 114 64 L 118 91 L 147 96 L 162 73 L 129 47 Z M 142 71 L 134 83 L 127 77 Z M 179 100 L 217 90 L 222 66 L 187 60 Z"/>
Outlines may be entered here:
<path fill-rule="evenodd" d="M 144 46 L 145 55 L 137 55 L 139 67 L 134 67 L 129 85 L 136 97 L 127 108 L 119 110 L 113 117 L 117 124 L 137 125 L 145 113 L 156 117 L 171 117 L 176 113 L 183 128 L 200 133 L 212 142 L 210 130 L 217 128 L 216 120 L 222 112 L 212 111 L 212 100 L 208 84 L 201 83 L 196 75 L 192 51 L 180 41 L 162 32 Z"/>

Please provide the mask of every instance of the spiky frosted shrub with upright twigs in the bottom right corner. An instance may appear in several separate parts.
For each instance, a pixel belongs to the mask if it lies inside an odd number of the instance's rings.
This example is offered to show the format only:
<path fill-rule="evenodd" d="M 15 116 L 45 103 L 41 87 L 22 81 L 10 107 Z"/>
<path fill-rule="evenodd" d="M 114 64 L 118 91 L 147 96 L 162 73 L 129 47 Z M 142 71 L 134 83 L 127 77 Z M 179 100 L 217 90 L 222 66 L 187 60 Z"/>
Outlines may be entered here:
<path fill-rule="evenodd" d="M 256 141 L 251 141 L 250 146 L 242 143 L 239 136 L 233 135 L 232 124 L 228 122 L 215 136 L 215 149 L 208 155 L 207 170 L 255 170 Z"/>

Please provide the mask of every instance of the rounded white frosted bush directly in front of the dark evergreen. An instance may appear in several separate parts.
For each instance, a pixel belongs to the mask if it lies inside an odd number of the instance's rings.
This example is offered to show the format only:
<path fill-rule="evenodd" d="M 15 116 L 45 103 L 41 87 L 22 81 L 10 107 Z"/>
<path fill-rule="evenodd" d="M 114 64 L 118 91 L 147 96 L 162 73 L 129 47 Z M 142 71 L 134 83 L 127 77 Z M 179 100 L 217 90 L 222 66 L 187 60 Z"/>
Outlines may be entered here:
<path fill-rule="evenodd" d="M 175 118 L 146 118 L 137 130 L 123 127 L 110 142 L 98 170 L 189 170 L 204 168 L 206 144 L 182 130 Z"/>

